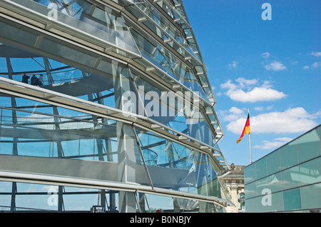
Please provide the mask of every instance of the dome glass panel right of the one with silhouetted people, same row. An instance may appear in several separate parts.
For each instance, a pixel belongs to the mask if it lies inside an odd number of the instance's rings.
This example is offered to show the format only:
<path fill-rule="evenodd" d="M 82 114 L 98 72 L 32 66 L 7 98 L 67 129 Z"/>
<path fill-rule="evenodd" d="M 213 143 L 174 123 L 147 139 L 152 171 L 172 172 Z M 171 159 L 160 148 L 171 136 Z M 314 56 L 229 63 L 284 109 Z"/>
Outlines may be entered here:
<path fill-rule="evenodd" d="M 131 70 L 133 75 L 138 76 L 138 72 Z M 167 92 L 156 88 L 152 81 L 137 79 L 136 86 L 144 102 L 146 114 L 149 118 L 164 125 L 175 128 L 188 136 L 196 138 L 210 146 L 215 146 L 216 142 L 212 131 L 208 127 L 203 114 L 198 106 L 188 101 L 195 99 L 191 92 Z M 192 96 L 190 98 L 190 96 Z"/>

